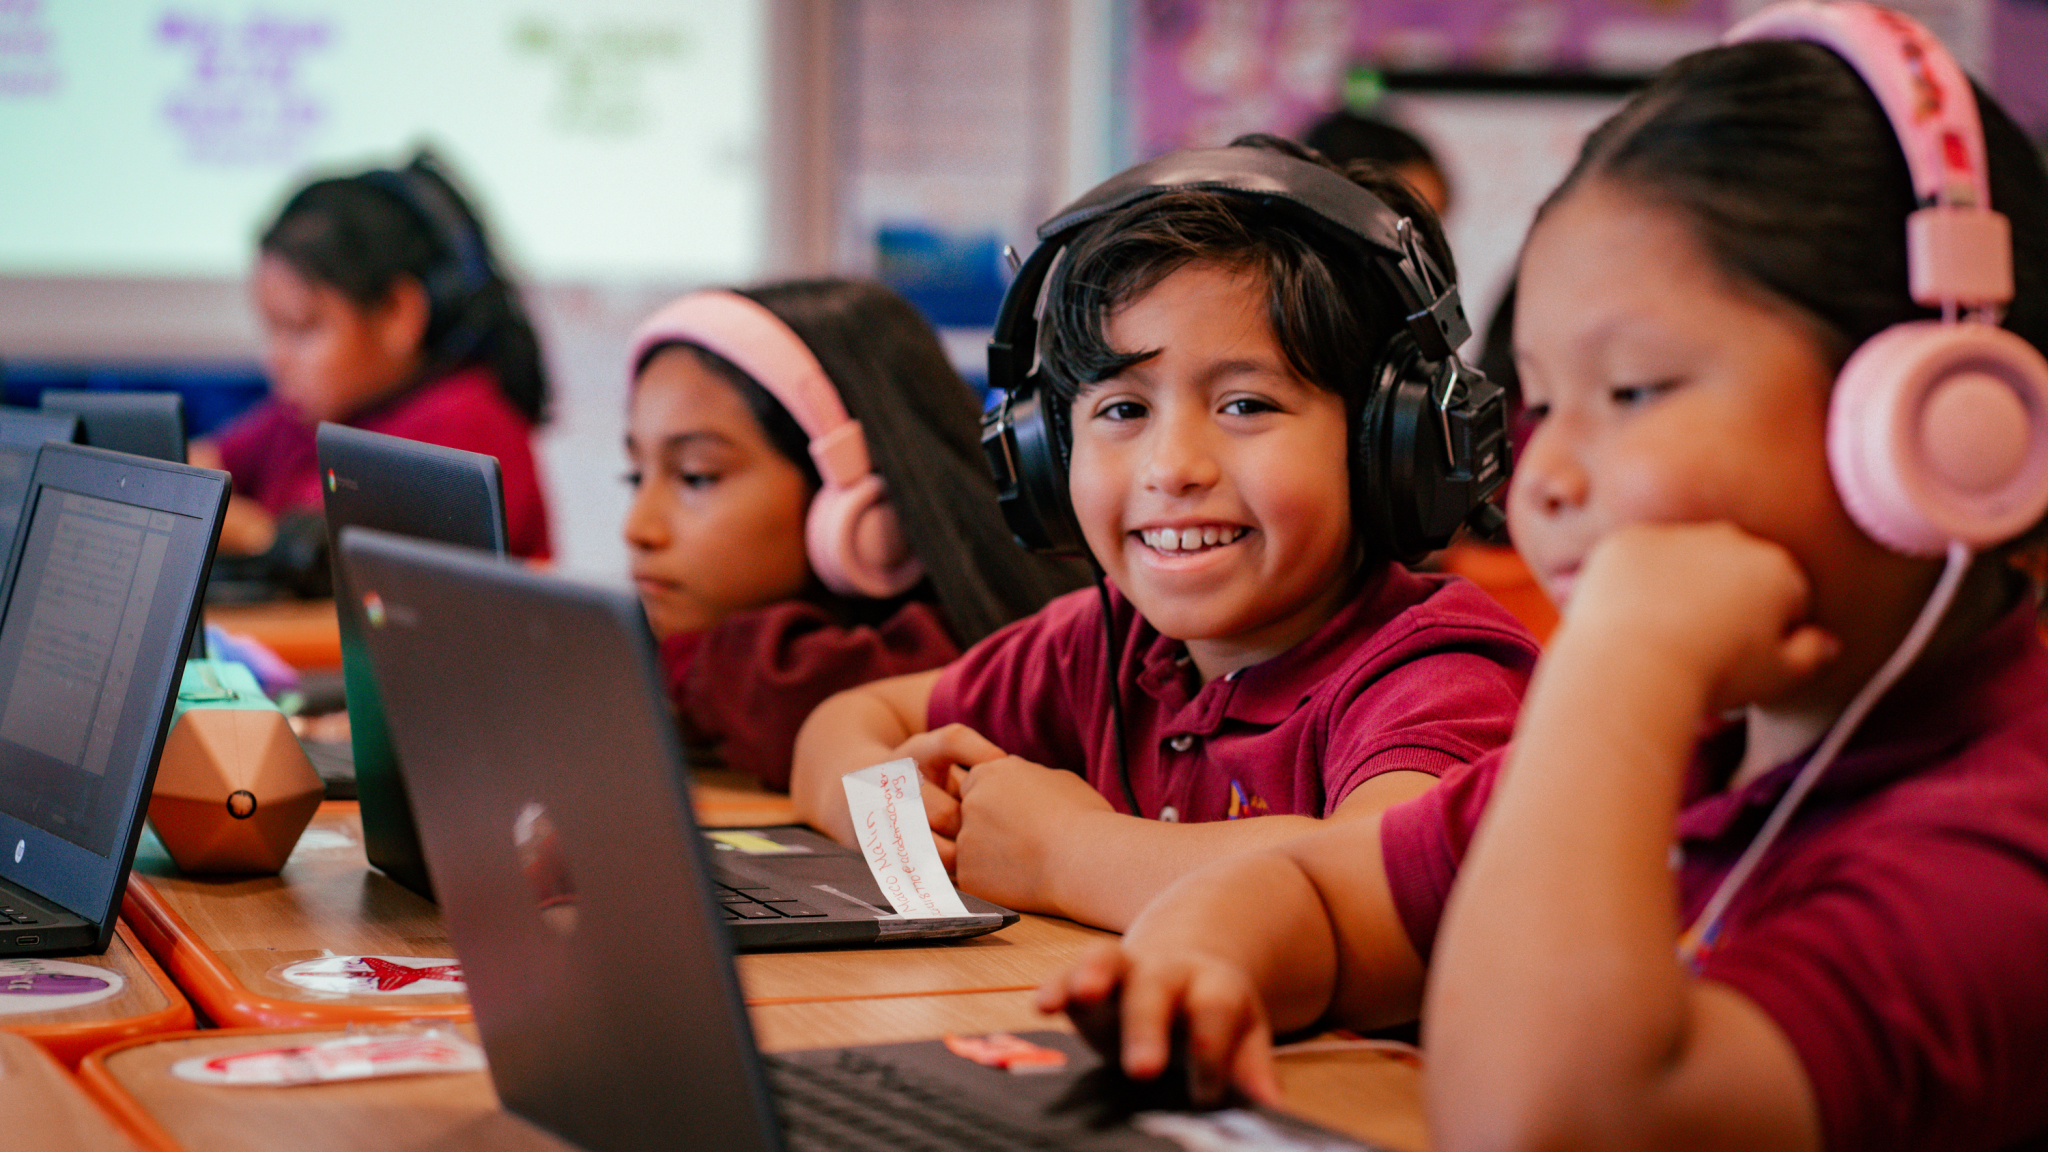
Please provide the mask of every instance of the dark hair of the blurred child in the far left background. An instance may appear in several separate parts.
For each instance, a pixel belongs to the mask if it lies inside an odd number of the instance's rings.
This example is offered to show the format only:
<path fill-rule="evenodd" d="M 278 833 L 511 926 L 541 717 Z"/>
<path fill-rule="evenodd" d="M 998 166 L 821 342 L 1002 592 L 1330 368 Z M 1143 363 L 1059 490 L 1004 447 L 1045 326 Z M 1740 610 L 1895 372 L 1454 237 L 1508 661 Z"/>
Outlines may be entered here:
<path fill-rule="evenodd" d="M 430 180 L 485 254 L 483 275 L 461 297 L 432 299 L 430 293 L 422 379 L 481 363 L 526 420 L 547 420 L 541 342 L 518 289 L 489 258 L 489 240 L 475 209 L 426 154 L 403 176 Z M 420 207 L 371 174 L 313 180 L 299 189 L 264 230 L 258 248 L 301 277 L 340 291 L 358 310 L 381 303 L 399 277 L 414 277 L 426 287 L 440 269 L 461 258 Z"/>

